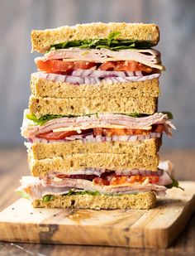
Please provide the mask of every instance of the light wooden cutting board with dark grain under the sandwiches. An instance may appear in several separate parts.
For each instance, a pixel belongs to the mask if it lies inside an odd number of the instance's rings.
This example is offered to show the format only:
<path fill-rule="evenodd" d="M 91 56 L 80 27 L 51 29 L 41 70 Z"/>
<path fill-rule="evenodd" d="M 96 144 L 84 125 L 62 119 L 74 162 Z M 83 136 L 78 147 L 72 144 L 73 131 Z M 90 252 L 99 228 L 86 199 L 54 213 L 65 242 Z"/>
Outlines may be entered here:
<path fill-rule="evenodd" d="M 166 248 L 195 210 L 195 182 L 180 182 L 152 210 L 33 209 L 20 199 L 0 213 L 0 240 Z"/>

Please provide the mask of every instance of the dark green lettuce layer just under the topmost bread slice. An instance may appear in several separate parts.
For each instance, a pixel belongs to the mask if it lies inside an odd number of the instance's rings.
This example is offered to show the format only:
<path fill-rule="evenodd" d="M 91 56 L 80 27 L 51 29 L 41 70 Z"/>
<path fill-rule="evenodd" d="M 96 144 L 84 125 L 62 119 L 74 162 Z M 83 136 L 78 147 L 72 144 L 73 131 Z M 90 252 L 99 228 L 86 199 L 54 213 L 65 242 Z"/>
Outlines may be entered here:
<path fill-rule="evenodd" d="M 59 44 L 51 45 L 49 51 L 54 51 L 57 49 L 67 49 L 70 47 L 78 47 L 84 49 L 106 48 L 112 51 L 120 51 L 124 49 L 147 49 L 152 46 L 149 41 L 117 40 L 117 37 L 120 35 L 120 31 L 113 31 L 112 33 L 110 33 L 107 39 L 64 41 Z"/>

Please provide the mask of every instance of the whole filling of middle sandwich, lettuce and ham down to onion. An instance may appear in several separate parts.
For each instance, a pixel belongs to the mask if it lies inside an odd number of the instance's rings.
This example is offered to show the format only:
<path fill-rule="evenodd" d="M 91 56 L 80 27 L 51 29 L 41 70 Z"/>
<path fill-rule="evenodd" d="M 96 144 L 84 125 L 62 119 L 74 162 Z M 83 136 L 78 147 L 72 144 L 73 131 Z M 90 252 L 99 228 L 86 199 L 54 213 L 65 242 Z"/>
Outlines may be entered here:
<path fill-rule="evenodd" d="M 30 142 L 37 138 L 47 141 L 133 141 L 160 138 L 163 132 L 171 136 L 172 128 L 174 125 L 168 115 L 162 113 L 147 117 L 92 114 L 78 117 L 52 115 L 37 119 L 25 111 L 21 134 Z"/>

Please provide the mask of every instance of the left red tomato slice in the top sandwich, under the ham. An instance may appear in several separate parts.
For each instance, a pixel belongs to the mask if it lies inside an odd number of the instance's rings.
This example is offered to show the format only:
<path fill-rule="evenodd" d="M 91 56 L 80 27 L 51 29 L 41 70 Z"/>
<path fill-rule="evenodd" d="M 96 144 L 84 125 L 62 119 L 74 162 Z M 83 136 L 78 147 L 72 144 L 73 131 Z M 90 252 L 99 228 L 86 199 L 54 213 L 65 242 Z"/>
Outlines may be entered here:
<path fill-rule="evenodd" d="M 69 72 L 70 70 L 82 69 L 88 70 L 96 66 L 96 63 L 88 61 L 63 61 L 63 60 L 38 60 L 36 67 L 48 73 Z"/>

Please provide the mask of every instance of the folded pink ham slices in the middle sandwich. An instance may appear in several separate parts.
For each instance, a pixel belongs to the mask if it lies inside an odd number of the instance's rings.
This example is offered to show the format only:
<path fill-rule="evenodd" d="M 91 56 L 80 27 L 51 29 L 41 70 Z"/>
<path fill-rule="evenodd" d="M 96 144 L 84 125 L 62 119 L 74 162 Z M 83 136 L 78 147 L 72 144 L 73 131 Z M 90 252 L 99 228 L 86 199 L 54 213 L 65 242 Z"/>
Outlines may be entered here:
<path fill-rule="evenodd" d="M 150 129 L 153 124 L 163 124 L 166 133 L 171 135 L 174 125 L 169 120 L 167 114 L 155 113 L 147 117 L 133 118 L 124 114 L 92 114 L 91 116 L 80 116 L 75 118 L 55 118 L 45 125 L 35 125 L 26 118 L 27 110 L 24 113 L 24 119 L 21 127 L 21 134 L 25 138 L 34 138 L 37 134 L 47 133 L 50 131 L 56 132 L 59 129 L 66 131 L 81 130 L 88 128 L 107 128 L 112 125 L 112 128 L 133 128 L 133 129 Z"/>

